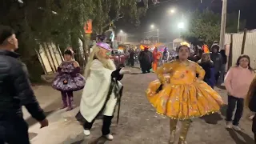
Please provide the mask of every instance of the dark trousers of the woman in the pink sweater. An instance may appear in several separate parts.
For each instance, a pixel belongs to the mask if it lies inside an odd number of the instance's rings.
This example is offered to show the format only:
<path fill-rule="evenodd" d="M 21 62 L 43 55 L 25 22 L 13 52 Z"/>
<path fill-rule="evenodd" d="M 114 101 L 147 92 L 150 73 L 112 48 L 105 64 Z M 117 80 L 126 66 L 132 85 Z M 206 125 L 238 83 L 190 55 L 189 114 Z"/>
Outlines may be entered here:
<path fill-rule="evenodd" d="M 229 95 L 228 96 L 228 106 L 227 106 L 227 110 L 226 110 L 226 121 L 229 121 L 229 122 L 232 121 L 235 106 L 237 106 L 237 110 L 235 111 L 235 114 L 234 114 L 233 125 L 238 126 L 239 121 L 242 118 L 244 99 L 243 98 L 235 98 L 235 97 Z"/>

